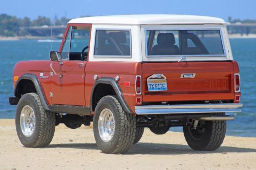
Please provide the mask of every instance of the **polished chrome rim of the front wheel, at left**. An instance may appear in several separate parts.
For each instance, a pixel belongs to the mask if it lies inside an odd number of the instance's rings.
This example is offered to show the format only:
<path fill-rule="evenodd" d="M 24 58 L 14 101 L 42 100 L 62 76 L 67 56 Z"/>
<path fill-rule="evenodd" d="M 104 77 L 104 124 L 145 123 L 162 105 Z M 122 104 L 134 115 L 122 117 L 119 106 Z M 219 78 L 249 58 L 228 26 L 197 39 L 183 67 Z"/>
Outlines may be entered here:
<path fill-rule="evenodd" d="M 30 137 L 35 130 L 35 113 L 31 106 L 26 105 L 20 113 L 20 128 L 26 137 Z"/>

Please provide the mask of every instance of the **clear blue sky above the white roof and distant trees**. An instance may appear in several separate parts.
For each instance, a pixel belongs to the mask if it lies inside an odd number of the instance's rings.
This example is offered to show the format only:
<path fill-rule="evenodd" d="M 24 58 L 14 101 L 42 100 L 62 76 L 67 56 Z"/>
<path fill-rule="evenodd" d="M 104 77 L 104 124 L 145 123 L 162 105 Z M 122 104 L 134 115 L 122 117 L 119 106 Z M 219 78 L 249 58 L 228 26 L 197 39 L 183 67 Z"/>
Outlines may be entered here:
<path fill-rule="evenodd" d="M 0 14 L 17 17 L 37 16 L 75 18 L 85 15 L 117 14 L 190 14 L 232 18 L 256 19 L 255 0 L 0 0 Z"/>

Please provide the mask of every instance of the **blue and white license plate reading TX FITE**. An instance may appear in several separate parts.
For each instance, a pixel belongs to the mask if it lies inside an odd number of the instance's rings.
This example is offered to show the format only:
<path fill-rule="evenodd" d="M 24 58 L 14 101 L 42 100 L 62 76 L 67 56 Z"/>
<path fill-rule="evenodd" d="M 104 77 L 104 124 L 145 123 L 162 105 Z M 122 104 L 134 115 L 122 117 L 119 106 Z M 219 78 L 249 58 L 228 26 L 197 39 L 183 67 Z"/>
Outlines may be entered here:
<path fill-rule="evenodd" d="M 148 91 L 166 91 L 166 79 L 147 79 Z"/>

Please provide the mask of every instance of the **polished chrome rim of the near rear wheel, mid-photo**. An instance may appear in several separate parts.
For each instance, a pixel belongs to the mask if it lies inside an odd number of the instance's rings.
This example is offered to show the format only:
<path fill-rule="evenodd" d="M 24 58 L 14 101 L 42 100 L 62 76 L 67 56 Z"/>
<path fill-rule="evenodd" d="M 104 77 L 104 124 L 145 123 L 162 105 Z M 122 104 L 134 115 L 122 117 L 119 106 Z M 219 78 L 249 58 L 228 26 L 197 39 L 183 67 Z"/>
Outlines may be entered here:
<path fill-rule="evenodd" d="M 103 109 L 99 114 L 98 129 L 100 138 L 109 142 L 115 133 L 115 118 L 110 109 Z"/>

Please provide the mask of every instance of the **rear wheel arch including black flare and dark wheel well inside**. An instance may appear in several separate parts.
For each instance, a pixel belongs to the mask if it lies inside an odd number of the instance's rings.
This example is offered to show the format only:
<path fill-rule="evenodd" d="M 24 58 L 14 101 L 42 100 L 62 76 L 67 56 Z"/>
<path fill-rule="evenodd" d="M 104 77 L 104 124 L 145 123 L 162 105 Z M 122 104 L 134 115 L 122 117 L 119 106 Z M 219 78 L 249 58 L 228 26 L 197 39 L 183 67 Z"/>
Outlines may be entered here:
<path fill-rule="evenodd" d="M 122 90 L 118 82 L 114 78 L 100 78 L 94 83 L 91 92 L 91 111 L 95 110 L 98 101 L 105 95 L 116 95 L 125 112 L 132 113 L 131 109 L 123 99 Z"/>

